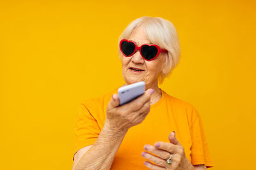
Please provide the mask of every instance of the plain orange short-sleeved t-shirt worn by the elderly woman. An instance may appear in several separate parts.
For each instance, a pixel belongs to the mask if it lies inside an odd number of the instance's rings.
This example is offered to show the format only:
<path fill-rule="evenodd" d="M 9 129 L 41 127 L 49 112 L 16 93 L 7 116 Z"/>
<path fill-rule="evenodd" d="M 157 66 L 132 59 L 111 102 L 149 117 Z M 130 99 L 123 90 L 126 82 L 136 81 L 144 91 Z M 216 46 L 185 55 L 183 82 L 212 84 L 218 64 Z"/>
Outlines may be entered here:
<path fill-rule="evenodd" d="M 147 169 L 141 156 L 143 146 L 157 141 L 170 142 L 168 135 L 175 131 L 184 147 L 186 157 L 193 165 L 212 167 L 212 160 L 205 139 L 204 127 L 198 111 L 189 103 L 166 94 L 150 106 L 143 122 L 131 127 L 116 152 L 111 169 Z M 76 122 L 76 150 L 93 145 L 106 120 L 106 109 L 117 89 L 96 99 L 81 103 Z"/>

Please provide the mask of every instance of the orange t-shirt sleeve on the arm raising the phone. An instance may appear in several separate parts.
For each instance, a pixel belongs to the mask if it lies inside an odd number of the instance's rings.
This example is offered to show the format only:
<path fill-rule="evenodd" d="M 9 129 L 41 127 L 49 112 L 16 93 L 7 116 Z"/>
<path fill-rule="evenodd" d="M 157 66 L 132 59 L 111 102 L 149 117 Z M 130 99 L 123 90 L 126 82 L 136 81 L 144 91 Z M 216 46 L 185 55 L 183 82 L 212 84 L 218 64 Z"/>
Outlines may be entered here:
<path fill-rule="evenodd" d="M 93 145 L 100 134 L 100 127 L 97 120 L 84 103 L 79 104 L 79 108 L 77 109 L 75 134 L 76 143 L 74 153 L 85 146 Z"/>

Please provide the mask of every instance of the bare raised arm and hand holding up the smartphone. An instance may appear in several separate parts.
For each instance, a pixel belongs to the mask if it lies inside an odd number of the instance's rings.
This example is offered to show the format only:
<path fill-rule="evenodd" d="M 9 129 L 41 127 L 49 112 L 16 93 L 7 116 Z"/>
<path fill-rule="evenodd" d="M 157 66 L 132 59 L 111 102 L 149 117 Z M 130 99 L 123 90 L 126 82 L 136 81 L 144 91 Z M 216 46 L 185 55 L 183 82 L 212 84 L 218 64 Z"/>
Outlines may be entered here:
<path fill-rule="evenodd" d="M 152 89 L 130 103 L 119 106 L 114 94 L 107 108 L 107 118 L 93 145 L 79 150 L 74 157 L 73 170 L 109 169 L 128 129 L 140 124 L 150 111 Z"/>

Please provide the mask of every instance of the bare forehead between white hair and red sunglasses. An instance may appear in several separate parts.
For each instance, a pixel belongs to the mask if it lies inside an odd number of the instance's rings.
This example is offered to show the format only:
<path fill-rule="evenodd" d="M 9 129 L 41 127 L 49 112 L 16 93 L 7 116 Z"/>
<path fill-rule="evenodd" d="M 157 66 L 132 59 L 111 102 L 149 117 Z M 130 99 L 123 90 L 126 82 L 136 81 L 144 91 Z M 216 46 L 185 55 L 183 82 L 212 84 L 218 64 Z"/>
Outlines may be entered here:
<path fill-rule="evenodd" d="M 150 43 L 150 40 L 148 39 L 148 36 L 144 31 L 143 25 L 140 25 L 139 27 L 134 29 L 134 31 L 132 31 L 129 40 L 135 41 L 138 44 Z"/>

